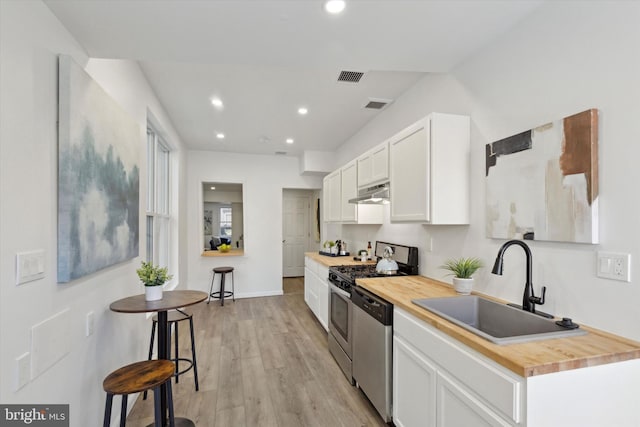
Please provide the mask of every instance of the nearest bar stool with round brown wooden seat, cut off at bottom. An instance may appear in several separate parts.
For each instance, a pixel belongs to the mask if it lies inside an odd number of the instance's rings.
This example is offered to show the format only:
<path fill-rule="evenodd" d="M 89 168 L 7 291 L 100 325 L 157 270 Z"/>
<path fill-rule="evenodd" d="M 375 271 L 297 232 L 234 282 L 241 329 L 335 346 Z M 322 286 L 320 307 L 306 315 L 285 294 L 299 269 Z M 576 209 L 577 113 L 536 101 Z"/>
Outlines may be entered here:
<path fill-rule="evenodd" d="M 173 416 L 173 395 L 171 392 L 171 377 L 174 371 L 173 362 L 170 360 L 145 360 L 132 363 L 110 373 L 102 382 L 102 388 L 107 392 L 107 402 L 104 409 L 104 427 L 111 424 L 111 406 L 113 396 L 122 395 L 120 410 L 120 427 L 127 422 L 127 396 L 132 393 L 140 393 L 153 389 L 153 406 L 156 427 L 162 425 L 162 418 L 167 414 L 161 412 L 161 392 L 163 384 L 167 386 L 167 407 L 169 408 L 169 425 L 175 426 Z"/>

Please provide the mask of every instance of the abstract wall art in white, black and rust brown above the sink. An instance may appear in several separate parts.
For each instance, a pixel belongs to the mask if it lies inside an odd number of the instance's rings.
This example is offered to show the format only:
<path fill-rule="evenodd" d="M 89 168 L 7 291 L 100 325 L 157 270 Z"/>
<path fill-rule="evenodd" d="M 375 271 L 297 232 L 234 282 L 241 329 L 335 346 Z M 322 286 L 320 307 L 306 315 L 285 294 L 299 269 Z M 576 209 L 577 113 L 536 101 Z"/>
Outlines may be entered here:
<path fill-rule="evenodd" d="M 598 110 L 485 151 L 487 237 L 598 243 Z"/>

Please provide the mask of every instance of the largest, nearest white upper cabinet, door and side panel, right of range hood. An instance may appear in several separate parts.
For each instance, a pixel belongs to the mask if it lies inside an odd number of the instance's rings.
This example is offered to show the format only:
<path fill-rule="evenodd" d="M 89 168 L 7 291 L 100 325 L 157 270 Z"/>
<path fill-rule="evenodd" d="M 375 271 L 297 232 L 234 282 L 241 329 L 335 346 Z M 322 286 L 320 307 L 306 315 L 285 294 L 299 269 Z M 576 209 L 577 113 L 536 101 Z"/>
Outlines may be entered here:
<path fill-rule="evenodd" d="M 432 113 L 389 140 L 391 222 L 469 223 L 468 116 Z"/>

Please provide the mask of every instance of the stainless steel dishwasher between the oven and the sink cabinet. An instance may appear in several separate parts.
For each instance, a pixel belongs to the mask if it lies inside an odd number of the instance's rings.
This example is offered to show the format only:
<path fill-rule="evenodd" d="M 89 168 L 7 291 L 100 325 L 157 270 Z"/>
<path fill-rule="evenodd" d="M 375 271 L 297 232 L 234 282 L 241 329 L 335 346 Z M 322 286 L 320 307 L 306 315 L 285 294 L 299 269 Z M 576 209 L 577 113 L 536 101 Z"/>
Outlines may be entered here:
<path fill-rule="evenodd" d="M 352 288 L 353 379 L 385 422 L 391 421 L 393 304 Z"/>

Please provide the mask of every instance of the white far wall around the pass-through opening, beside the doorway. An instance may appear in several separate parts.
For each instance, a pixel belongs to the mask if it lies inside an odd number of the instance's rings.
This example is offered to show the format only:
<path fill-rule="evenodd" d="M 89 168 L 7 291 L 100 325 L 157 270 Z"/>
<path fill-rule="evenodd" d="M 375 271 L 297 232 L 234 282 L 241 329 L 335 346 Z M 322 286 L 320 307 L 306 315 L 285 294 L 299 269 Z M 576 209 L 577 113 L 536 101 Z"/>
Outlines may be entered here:
<path fill-rule="evenodd" d="M 322 179 L 300 175 L 298 159 L 287 156 L 190 151 L 187 163 L 189 289 L 208 292 L 211 270 L 228 265 L 235 267 L 236 298 L 281 294 L 282 190 L 319 189 Z M 203 182 L 243 185 L 244 256 L 201 256 Z"/>

